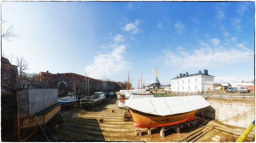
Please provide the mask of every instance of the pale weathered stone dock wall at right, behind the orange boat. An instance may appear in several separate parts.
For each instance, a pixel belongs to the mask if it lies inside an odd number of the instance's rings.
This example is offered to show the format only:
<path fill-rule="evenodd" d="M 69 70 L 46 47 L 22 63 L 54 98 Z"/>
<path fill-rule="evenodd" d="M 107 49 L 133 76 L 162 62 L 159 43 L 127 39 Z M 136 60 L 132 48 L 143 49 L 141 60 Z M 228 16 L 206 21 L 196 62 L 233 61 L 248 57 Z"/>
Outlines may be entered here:
<path fill-rule="evenodd" d="M 206 100 L 216 110 L 215 119 L 223 124 L 247 128 L 255 119 L 254 96 L 212 96 Z"/>

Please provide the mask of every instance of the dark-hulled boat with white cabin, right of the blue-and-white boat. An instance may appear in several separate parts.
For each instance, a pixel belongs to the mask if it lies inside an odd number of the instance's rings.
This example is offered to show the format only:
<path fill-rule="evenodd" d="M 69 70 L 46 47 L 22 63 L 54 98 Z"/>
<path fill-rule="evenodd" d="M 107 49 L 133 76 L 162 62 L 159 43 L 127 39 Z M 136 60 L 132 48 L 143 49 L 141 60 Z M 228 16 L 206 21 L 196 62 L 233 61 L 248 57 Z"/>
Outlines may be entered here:
<path fill-rule="evenodd" d="M 80 104 L 84 109 L 88 107 L 94 107 L 100 105 L 105 100 L 105 98 L 106 96 L 103 92 L 95 92 L 92 96 L 83 97 L 80 100 Z"/>

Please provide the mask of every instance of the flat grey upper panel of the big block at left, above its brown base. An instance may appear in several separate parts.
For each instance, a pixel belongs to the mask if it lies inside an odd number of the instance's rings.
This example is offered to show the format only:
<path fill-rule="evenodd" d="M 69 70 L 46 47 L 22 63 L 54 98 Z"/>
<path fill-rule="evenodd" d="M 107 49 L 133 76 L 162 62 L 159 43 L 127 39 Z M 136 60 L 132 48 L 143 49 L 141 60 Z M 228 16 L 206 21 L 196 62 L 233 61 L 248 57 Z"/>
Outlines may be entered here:
<path fill-rule="evenodd" d="M 18 90 L 20 117 L 31 116 L 58 102 L 57 89 Z"/>

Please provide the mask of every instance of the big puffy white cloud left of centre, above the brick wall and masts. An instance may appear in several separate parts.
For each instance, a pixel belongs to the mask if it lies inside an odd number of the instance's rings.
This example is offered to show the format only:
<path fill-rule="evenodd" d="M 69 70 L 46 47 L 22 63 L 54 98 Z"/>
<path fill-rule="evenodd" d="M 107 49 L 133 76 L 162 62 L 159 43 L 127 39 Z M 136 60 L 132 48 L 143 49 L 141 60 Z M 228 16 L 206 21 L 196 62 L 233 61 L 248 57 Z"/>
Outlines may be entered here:
<path fill-rule="evenodd" d="M 118 44 L 111 46 L 113 50 L 110 53 L 94 56 L 92 64 L 85 68 L 87 76 L 102 79 L 104 71 L 107 76 L 112 76 L 127 68 L 128 63 L 123 57 L 126 47 Z"/>

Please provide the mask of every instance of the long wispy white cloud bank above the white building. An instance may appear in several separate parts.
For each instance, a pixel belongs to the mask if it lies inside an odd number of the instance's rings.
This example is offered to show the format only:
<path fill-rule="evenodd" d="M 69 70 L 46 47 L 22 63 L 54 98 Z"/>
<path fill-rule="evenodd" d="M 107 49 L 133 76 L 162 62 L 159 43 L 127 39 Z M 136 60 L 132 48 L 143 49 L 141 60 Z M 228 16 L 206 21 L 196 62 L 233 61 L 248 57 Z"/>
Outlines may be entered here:
<path fill-rule="evenodd" d="M 207 45 L 201 41 L 203 45 Z M 179 66 L 184 69 L 188 68 L 207 68 L 207 67 L 222 67 L 227 61 L 232 61 L 233 64 L 243 63 L 253 60 L 254 52 L 246 48 L 243 44 L 238 44 L 236 48 L 224 47 L 202 47 L 191 52 L 179 51 L 164 51 L 164 62 L 166 66 Z M 230 63 L 230 64 L 232 64 Z"/>

